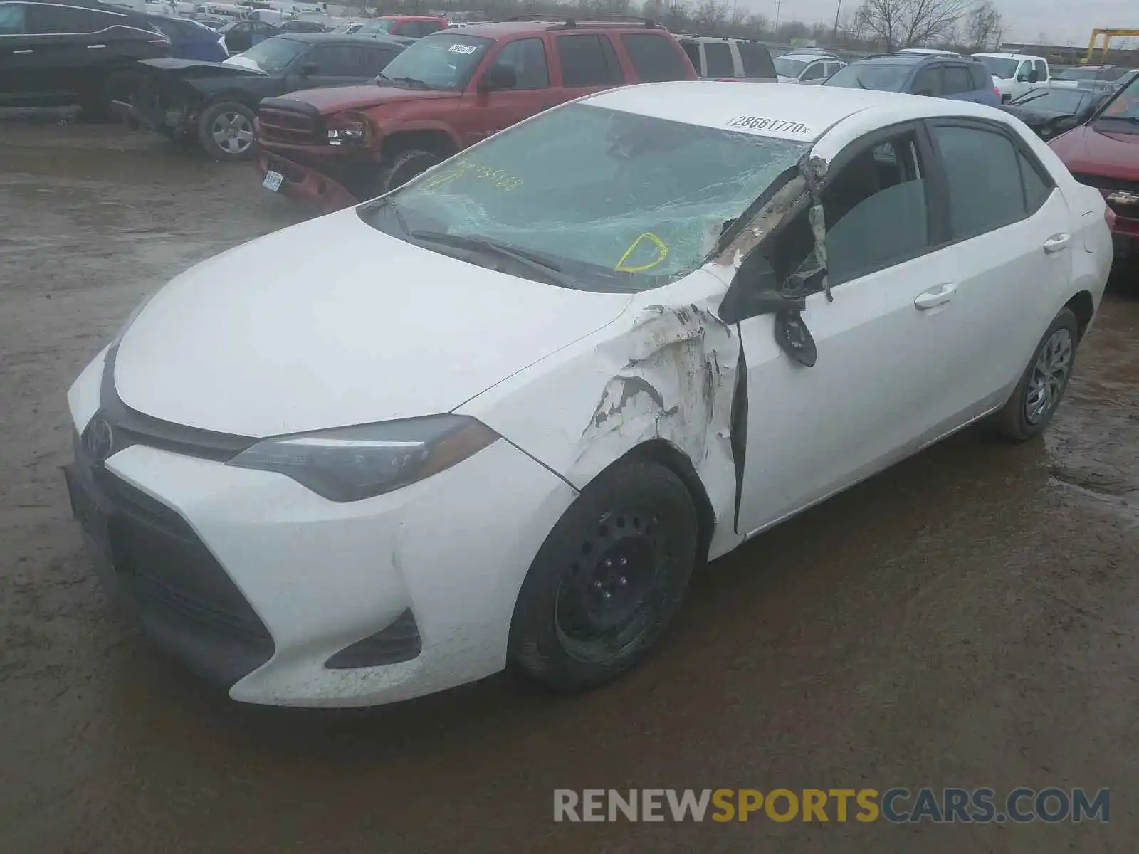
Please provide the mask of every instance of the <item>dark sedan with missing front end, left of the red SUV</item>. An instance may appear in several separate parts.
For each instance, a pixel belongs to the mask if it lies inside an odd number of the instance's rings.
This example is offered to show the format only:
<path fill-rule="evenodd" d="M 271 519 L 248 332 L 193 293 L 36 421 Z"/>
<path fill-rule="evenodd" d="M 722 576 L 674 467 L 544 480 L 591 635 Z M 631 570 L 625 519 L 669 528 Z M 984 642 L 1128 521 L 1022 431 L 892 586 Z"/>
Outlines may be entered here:
<path fill-rule="evenodd" d="M 405 47 L 400 39 L 343 33 L 289 33 L 254 44 L 224 63 L 148 59 L 139 89 L 118 106 L 170 138 L 197 138 L 220 161 L 253 154 L 254 117 L 262 98 L 297 89 L 375 80 Z"/>

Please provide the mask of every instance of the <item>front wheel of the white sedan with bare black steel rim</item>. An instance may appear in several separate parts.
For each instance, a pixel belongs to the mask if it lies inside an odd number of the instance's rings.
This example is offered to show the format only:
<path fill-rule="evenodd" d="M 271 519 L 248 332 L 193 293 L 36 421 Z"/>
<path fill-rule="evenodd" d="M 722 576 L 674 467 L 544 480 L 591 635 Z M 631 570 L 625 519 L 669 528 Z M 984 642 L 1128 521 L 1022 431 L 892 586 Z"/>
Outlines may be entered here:
<path fill-rule="evenodd" d="M 599 475 L 554 526 L 523 582 L 508 658 L 560 691 L 616 679 L 675 615 L 697 561 L 691 495 L 655 462 Z"/>

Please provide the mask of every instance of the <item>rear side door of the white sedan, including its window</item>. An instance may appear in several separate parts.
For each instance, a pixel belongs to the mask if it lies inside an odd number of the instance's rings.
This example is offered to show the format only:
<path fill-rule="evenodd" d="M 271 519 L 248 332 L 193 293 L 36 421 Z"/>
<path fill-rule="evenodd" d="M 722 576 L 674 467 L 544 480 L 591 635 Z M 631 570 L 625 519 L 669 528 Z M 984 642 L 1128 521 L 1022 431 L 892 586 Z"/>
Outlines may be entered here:
<path fill-rule="evenodd" d="M 948 203 L 949 243 L 937 253 L 948 298 L 931 309 L 943 312 L 943 345 L 956 343 L 940 383 L 948 429 L 1003 403 L 1019 378 L 1068 287 L 1075 223 L 1011 129 L 972 120 L 929 129 Z"/>

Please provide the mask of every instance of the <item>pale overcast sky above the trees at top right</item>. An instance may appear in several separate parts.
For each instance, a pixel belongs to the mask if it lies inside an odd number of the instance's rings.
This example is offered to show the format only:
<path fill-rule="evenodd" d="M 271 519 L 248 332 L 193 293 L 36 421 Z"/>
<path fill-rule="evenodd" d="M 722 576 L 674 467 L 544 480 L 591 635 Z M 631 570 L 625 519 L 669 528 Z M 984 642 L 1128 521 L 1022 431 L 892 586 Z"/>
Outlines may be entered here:
<path fill-rule="evenodd" d="M 776 0 L 736 0 L 743 8 L 767 15 L 775 20 Z M 1136 0 L 993 0 L 1005 15 L 1008 41 L 1035 41 L 1046 33 L 1054 44 L 1087 44 L 1096 27 L 1139 30 L 1139 2 Z M 730 6 L 731 0 L 728 0 Z M 857 8 L 861 0 L 842 0 L 844 7 Z M 802 20 L 813 24 L 835 20 L 836 0 L 784 0 L 780 23 Z"/>

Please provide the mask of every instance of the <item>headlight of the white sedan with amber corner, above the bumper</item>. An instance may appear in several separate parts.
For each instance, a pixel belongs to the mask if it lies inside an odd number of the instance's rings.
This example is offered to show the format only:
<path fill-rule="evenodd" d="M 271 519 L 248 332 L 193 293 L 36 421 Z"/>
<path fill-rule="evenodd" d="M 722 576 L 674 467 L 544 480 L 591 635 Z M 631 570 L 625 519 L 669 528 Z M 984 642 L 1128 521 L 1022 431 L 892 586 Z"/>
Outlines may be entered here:
<path fill-rule="evenodd" d="M 443 471 L 498 437 L 466 416 L 429 416 L 276 436 L 226 465 L 288 475 L 329 501 L 360 501 Z"/>

